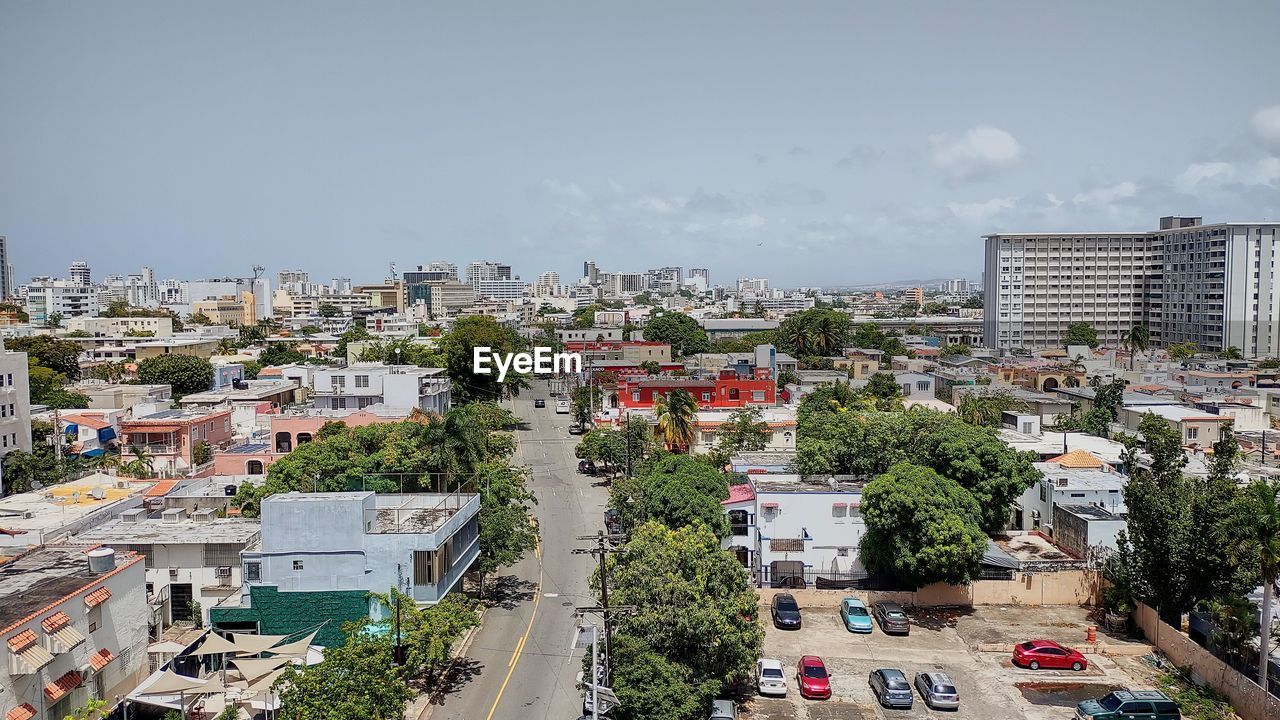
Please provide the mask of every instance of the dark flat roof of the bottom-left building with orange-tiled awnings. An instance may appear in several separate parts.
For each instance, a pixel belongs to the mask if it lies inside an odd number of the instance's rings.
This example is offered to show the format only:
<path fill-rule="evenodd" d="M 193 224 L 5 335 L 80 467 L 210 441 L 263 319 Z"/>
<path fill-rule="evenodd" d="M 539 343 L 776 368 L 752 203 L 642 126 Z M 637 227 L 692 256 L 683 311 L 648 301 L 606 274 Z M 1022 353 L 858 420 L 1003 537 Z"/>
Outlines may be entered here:
<path fill-rule="evenodd" d="M 105 574 L 88 569 L 92 546 L 45 546 L 0 562 L 0 633 L 32 612 L 76 594 Z M 116 569 L 142 560 L 141 555 L 116 553 Z"/>

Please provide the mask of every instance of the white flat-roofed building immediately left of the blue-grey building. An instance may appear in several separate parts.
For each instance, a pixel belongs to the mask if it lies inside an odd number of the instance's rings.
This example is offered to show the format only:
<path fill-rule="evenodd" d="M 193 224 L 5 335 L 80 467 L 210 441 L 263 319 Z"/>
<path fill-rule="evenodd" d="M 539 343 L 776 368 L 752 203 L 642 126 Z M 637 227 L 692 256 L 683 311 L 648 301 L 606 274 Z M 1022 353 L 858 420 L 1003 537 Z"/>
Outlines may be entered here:
<path fill-rule="evenodd" d="M 133 551 L 146 559 L 147 602 L 152 632 L 175 620 L 191 621 L 198 605 L 201 621 L 209 609 L 241 591 L 239 553 L 257 542 L 261 524 L 242 518 L 216 518 L 212 509 L 187 516 L 179 507 L 147 518 L 142 507 L 123 512 L 76 536 L 76 542 Z"/>

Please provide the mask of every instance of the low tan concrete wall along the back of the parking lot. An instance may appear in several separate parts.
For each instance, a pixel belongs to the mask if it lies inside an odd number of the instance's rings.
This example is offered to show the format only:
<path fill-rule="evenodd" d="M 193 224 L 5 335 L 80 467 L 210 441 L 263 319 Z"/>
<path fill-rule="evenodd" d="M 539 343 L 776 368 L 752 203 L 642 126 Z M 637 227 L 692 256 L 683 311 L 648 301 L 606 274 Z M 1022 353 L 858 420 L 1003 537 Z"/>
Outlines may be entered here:
<path fill-rule="evenodd" d="M 762 588 L 760 602 L 768 605 L 774 593 L 788 592 L 800 607 L 837 607 L 846 597 L 864 602 L 893 601 L 918 607 L 975 605 L 1096 605 L 1101 600 L 1101 577 L 1093 570 L 1018 574 L 1012 580 L 978 580 L 969 585 L 936 583 L 918 591 L 817 591 Z"/>

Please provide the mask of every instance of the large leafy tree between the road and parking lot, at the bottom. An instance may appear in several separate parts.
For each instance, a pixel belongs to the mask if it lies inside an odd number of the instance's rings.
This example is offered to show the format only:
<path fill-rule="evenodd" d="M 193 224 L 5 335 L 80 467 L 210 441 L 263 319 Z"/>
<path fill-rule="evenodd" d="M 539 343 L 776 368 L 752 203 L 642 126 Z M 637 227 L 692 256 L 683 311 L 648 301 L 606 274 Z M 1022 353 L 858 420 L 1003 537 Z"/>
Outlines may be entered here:
<path fill-rule="evenodd" d="M 760 657 L 764 630 L 756 623 L 756 597 L 746 570 L 722 551 L 703 527 L 669 529 L 645 523 L 635 529 L 626 552 L 611 555 L 609 602 L 632 605 L 616 625 L 614 685 L 622 706 L 618 720 L 648 719 L 653 701 L 640 693 L 672 693 L 673 708 L 705 711 L 718 693 L 750 676 Z M 593 577 L 599 587 L 599 577 Z M 657 688 L 650 683 L 673 683 Z M 628 707 L 623 698 L 637 705 Z"/>

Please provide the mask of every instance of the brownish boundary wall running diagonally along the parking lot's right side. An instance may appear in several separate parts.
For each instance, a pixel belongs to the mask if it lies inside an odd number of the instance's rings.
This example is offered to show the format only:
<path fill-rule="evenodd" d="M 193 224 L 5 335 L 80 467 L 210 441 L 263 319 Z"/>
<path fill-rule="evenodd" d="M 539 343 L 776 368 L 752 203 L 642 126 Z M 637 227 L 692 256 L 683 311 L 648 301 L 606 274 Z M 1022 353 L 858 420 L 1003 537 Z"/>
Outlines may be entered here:
<path fill-rule="evenodd" d="M 1147 641 L 1164 652 L 1179 667 L 1189 667 L 1197 678 L 1226 696 L 1231 707 L 1244 720 L 1274 720 L 1280 717 L 1280 698 L 1262 689 L 1251 678 L 1238 673 L 1208 650 L 1196 644 L 1181 630 L 1160 619 L 1155 609 L 1138 603 L 1138 626 Z"/>

